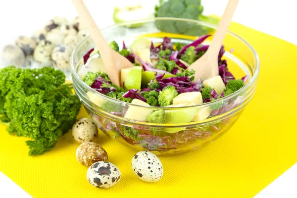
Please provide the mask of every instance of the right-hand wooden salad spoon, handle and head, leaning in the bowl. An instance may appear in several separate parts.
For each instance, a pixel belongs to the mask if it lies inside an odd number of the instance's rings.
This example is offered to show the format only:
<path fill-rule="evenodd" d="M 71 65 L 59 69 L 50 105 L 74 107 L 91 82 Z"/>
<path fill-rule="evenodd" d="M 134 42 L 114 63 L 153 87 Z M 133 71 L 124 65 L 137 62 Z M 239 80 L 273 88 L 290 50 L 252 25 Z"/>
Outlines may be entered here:
<path fill-rule="evenodd" d="M 232 21 L 232 17 L 237 7 L 238 1 L 239 0 L 229 0 L 209 48 L 200 58 L 198 58 L 188 67 L 188 69 L 194 69 L 196 71 L 196 81 L 199 79 L 206 80 L 208 78 L 219 75 L 219 51 L 222 47 L 227 30 Z"/>

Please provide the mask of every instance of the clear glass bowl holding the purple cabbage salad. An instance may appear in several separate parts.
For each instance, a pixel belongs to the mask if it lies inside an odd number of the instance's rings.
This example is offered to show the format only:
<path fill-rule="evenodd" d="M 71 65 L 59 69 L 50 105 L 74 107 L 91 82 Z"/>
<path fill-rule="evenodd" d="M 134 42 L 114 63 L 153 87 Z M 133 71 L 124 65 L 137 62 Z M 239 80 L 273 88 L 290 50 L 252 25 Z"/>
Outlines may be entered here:
<path fill-rule="evenodd" d="M 166 24 L 167 28 L 164 27 Z M 173 25 L 181 28 L 170 28 Z M 107 42 L 116 41 L 121 44 L 125 41 L 129 47 L 138 38 L 161 43 L 165 36 L 171 38 L 173 44 L 189 44 L 199 36 L 213 34 L 215 29 L 216 26 L 197 20 L 154 18 L 112 25 L 102 29 L 102 34 Z M 211 39 L 212 36 L 208 37 L 203 45 L 209 44 Z M 252 99 L 257 86 L 260 65 L 255 50 L 232 32 L 227 33 L 223 45 L 226 50 L 223 59 L 227 60 L 229 71 L 236 79 L 247 76 L 248 80 L 239 91 L 216 101 L 186 107 L 147 107 L 122 102 L 96 92 L 81 79 L 86 70 L 83 56 L 90 49 L 96 48 L 90 37 L 83 40 L 72 52 L 70 61 L 73 87 L 91 119 L 111 139 L 136 150 L 149 150 L 157 155 L 198 149 L 220 138 L 233 126 Z M 212 110 L 212 106 L 219 103 L 222 107 Z M 106 111 L 106 105 L 116 110 Z M 140 119 L 127 119 L 125 112 L 128 108 L 132 108 Z M 166 116 L 170 115 L 170 123 L 148 123 L 141 118 L 158 110 L 165 110 Z M 206 115 L 205 119 L 191 122 L 197 112 L 204 112 L 202 115 Z"/>

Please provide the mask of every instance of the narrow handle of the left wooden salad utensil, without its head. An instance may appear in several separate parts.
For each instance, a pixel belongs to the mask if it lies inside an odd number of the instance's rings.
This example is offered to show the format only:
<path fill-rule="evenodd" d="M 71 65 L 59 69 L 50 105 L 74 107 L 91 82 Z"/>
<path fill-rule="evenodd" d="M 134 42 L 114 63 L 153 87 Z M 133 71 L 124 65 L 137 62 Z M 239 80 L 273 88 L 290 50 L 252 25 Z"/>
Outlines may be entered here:
<path fill-rule="evenodd" d="M 96 22 L 94 21 L 93 17 L 91 16 L 88 8 L 86 7 L 83 0 L 72 0 L 72 3 L 77 10 L 79 16 L 83 19 L 82 21 L 84 23 L 87 23 L 88 31 L 94 40 L 94 43 L 98 47 L 100 53 L 109 49 L 109 45 L 104 39 L 101 31 L 99 30 L 98 26 L 96 25 Z"/>

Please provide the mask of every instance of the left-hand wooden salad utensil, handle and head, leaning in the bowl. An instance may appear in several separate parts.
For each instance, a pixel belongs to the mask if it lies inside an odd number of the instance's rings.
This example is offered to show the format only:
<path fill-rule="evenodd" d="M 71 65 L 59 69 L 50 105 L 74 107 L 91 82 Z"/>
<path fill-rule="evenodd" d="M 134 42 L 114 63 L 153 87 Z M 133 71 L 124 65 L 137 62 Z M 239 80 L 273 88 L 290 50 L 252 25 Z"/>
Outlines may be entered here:
<path fill-rule="evenodd" d="M 97 48 L 99 49 L 103 65 L 106 68 L 106 73 L 110 78 L 111 83 L 120 87 L 121 69 L 133 67 L 134 65 L 125 56 L 109 47 L 84 1 L 72 0 L 72 3 L 75 6 L 80 18 L 87 25 L 87 29 Z"/>

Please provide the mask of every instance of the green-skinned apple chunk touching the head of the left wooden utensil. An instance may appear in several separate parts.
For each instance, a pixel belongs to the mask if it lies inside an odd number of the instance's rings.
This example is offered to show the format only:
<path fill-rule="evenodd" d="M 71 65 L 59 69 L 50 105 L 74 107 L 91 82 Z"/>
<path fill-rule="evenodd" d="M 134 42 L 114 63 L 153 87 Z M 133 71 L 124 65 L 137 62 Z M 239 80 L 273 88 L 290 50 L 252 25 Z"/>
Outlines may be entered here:
<path fill-rule="evenodd" d="M 124 88 L 127 90 L 141 88 L 142 67 L 136 66 L 130 69 L 125 78 Z"/>

